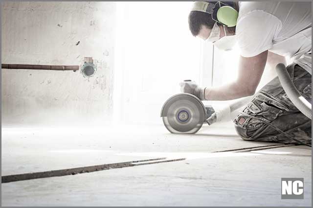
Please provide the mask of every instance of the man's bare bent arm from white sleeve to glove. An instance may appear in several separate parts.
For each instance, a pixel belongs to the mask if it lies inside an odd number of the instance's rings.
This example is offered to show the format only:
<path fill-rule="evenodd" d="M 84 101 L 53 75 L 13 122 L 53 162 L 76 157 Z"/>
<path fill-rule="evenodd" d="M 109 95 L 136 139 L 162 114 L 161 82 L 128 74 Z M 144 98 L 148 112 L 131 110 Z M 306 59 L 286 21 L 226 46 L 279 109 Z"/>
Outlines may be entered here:
<path fill-rule="evenodd" d="M 205 89 L 206 100 L 232 100 L 253 95 L 261 80 L 268 57 L 268 51 L 254 57 L 240 57 L 236 81 Z"/>

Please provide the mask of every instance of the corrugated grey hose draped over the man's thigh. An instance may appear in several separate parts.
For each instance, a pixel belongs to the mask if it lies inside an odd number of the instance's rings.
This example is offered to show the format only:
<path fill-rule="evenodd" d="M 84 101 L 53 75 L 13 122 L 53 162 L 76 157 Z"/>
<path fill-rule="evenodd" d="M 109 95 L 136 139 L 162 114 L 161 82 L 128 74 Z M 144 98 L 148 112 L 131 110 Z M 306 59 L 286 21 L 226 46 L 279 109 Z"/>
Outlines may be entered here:
<path fill-rule="evenodd" d="M 276 72 L 283 89 L 285 90 L 293 105 L 295 105 L 295 107 L 297 107 L 301 113 L 312 120 L 312 105 L 299 93 L 297 88 L 294 86 L 287 72 L 286 66 L 282 63 L 277 64 Z"/>

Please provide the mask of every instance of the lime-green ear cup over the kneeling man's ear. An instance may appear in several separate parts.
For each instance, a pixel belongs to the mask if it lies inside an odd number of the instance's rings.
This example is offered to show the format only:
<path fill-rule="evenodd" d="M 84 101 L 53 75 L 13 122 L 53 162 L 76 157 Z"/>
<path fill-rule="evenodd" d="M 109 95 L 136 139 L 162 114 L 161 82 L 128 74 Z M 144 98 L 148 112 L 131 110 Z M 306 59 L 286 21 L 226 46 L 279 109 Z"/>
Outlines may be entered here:
<path fill-rule="evenodd" d="M 230 6 L 222 6 L 217 10 L 217 19 L 227 27 L 236 26 L 238 12 Z"/>

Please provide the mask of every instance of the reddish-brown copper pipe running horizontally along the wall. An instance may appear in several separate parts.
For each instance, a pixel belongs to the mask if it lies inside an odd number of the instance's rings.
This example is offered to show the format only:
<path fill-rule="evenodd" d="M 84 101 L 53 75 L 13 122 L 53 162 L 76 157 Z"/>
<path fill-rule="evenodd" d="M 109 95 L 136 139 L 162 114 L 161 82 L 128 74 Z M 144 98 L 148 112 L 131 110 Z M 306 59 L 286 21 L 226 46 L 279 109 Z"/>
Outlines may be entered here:
<path fill-rule="evenodd" d="M 39 69 L 39 70 L 79 70 L 79 66 L 31 65 L 31 64 L 1 64 L 2 69 Z"/>

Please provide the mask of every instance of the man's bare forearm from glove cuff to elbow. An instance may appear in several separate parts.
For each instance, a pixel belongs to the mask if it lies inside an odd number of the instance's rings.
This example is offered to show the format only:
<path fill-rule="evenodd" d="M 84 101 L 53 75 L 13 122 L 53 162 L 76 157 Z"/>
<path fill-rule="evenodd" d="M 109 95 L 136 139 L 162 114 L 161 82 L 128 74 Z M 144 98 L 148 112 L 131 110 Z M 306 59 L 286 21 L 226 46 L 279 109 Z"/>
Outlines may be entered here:
<path fill-rule="evenodd" d="M 253 95 L 255 89 L 248 89 L 242 87 L 243 85 L 237 82 L 232 82 L 230 84 L 221 87 L 207 87 L 205 89 L 205 99 L 206 100 L 233 100 L 241 97 L 246 97 Z"/>

